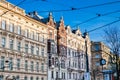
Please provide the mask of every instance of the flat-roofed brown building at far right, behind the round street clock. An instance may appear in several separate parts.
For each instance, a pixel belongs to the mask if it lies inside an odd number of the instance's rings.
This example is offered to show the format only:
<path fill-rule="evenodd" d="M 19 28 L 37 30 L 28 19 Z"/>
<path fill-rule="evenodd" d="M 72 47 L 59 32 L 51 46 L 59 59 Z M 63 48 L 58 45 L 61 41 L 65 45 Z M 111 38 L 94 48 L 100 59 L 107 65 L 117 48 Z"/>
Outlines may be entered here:
<path fill-rule="evenodd" d="M 91 42 L 92 80 L 106 80 L 105 71 L 110 70 L 110 49 L 103 42 Z M 105 65 L 101 64 L 101 59 L 105 59 Z M 103 74 L 104 72 L 104 74 Z M 108 73 L 107 73 L 108 74 Z"/>

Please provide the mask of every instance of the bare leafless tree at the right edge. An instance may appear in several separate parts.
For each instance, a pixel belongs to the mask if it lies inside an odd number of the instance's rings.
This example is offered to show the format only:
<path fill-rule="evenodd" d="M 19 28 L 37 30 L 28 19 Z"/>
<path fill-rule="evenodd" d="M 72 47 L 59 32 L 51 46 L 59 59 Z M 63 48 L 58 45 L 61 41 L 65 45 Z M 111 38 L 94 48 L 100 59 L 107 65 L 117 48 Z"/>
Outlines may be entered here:
<path fill-rule="evenodd" d="M 105 41 L 110 47 L 111 52 L 115 56 L 115 65 L 117 72 L 117 80 L 119 80 L 119 67 L 120 67 L 120 29 L 118 27 L 109 27 L 104 30 Z M 113 56 L 113 57 L 114 57 Z M 113 57 L 111 60 L 113 60 Z"/>

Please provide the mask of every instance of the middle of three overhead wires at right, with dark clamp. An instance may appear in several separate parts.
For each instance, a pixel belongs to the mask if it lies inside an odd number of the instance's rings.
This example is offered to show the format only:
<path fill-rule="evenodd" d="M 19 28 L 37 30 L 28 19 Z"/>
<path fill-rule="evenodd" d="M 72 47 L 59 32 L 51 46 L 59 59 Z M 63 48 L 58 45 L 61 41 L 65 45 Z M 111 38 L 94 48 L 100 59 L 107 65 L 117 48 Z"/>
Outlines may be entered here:
<path fill-rule="evenodd" d="M 92 21 L 94 19 L 97 19 L 99 17 L 107 16 L 107 15 L 110 15 L 110 14 L 113 14 L 113 13 L 118 13 L 118 12 L 120 12 L 120 10 L 116 10 L 116 11 L 112 11 L 112 12 L 108 12 L 108 13 L 104 13 L 104 14 L 99 14 L 98 13 L 98 14 L 96 14 L 97 16 L 89 18 L 89 19 L 87 19 L 85 21 L 82 21 L 81 23 L 78 23 L 78 24 L 74 25 L 73 27 L 76 27 L 76 26 L 79 26 L 81 24 L 87 23 L 87 22 Z"/>

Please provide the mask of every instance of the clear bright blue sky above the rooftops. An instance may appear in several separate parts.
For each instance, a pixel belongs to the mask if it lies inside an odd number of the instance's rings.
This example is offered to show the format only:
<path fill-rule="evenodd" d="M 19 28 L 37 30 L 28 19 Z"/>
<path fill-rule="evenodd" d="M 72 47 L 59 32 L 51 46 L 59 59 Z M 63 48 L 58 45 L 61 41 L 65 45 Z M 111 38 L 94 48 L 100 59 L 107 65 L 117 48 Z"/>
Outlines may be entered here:
<path fill-rule="evenodd" d="M 14 5 L 17 5 L 19 2 L 23 0 L 7 0 L 7 1 L 11 2 Z M 97 16 L 97 14 L 105 14 L 120 10 L 120 2 L 92 8 L 84 8 L 80 10 L 71 10 L 71 8 L 81 8 L 115 1 L 119 0 L 25 0 L 23 3 L 19 5 L 19 7 L 24 9 L 26 13 L 37 11 L 38 14 L 42 17 L 48 17 L 49 12 L 52 12 L 55 21 L 59 21 L 60 17 L 63 16 L 65 25 L 71 26 L 71 29 L 77 29 L 79 27 L 81 32 L 84 33 L 85 30 L 90 31 L 120 19 L 119 15 L 120 12 L 116 12 L 77 25 L 92 17 Z M 61 11 L 54 12 L 54 10 Z M 104 42 L 104 29 L 111 26 L 119 27 L 119 25 L 120 22 L 117 22 L 104 28 L 92 31 L 89 33 L 90 39 L 92 41 Z"/>

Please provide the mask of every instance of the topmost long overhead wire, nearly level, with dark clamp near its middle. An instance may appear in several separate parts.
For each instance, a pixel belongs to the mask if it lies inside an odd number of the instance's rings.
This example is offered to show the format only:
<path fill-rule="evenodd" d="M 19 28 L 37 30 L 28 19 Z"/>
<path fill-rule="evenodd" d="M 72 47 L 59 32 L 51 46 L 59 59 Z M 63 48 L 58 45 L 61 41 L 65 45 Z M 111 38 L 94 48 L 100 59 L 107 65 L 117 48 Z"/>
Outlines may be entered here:
<path fill-rule="evenodd" d="M 113 1 L 113 2 L 107 2 L 107 3 L 102 3 L 102 4 L 90 5 L 90 6 L 85 6 L 85 7 L 81 7 L 81 8 L 71 8 L 71 9 L 65 9 L 65 10 L 46 10 L 46 11 L 38 11 L 38 12 L 43 13 L 43 12 L 75 11 L 75 10 L 82 10 L 82 9 L 88 9 L 88 8 L 104 6 L 104 5 L 111 5 L 111 4 L 118 4 L 118 3 L 120 3 L 120 1 Z"/>

